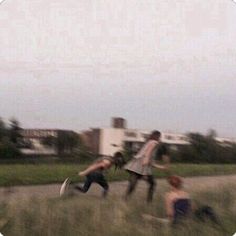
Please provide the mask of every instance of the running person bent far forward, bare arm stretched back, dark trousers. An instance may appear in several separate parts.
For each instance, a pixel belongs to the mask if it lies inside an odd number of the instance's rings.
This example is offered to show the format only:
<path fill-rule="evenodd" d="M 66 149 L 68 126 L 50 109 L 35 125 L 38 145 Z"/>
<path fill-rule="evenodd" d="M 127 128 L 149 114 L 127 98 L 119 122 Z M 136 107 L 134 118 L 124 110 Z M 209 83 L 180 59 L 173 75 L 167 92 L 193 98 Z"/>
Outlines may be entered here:
<path fill-rule="evenodd" d="M 123 164 L 124 164 L 124 159 L 120 152 L 115 154 L 114 157 L 105 156 L 98 159 L 87 169 L 78 173 L 79 176 L 85 176 L 86 180 L 83 186 L 76 185 L 74 186 L 74 189 L 82 193 L 86 193 L 89 190 L 92 183 L 97 183 L 103 188 L 103 197 L 106 197 L 109 191 L 109 184 L 104 176 L 104 171 L 108 170 L 113 165 L 115 165 L 115 169 L 121 168 Z"/>

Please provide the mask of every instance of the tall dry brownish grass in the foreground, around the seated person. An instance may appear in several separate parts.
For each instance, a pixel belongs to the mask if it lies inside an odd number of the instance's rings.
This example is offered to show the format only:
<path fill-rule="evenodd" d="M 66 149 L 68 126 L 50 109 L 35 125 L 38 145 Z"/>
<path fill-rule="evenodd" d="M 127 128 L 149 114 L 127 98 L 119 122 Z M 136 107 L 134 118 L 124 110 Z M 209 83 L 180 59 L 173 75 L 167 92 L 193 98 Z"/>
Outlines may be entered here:
<path fill-rule="evenodd" d="M 167 186 L 159 188 L 164 196 Z M 165 217 L 163 197 L 151 205 L 144 193 L 125 202 L 109 195 L 106 200 L 89 195 L 45 200 L 16 200 L 0 204 L 0 232 L 8 236 L 231 236 L 236 231 L 236 184 L 220 189 L 190 189 L 192 199 L 214 208 L 224 229 L 206 221 L 189 219 L 178 228 L 145 221 L 142 214 Z M 143 196 L 142 196 L 143 195 Z"/>

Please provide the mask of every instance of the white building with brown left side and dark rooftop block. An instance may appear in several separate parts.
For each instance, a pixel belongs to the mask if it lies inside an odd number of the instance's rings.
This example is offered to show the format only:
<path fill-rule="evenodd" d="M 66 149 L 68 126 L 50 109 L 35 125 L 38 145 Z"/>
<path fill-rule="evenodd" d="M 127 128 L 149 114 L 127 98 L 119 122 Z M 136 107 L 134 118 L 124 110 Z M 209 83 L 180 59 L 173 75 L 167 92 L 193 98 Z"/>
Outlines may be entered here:
<path fill-rule="evenodd" d="M 112 118 L 111 128 L 92 128 L 82 132 L 85 145 L 97 155 L 113 156 L 116 152 L 127 148 L 136 152 L 150 135 L 150 130 L 126 128 L 126 120 Z M 188 138 L 183 134 L 162 133 L 161 141 L 171 148 L 188 145 Z"/>

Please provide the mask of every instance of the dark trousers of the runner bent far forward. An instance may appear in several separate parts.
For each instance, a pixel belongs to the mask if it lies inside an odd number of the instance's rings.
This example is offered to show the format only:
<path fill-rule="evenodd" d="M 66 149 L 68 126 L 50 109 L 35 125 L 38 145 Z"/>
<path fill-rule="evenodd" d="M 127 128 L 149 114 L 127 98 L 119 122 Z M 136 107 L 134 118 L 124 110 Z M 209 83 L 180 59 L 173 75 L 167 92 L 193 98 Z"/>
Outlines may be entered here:
<path fill-rule="evenodd" d="M 101 172 L 92 172 L 88 175 L 86 175 L 86 180 L 84 182 L 83 186 L 75 186 L 77 190 L 79 190 L 82 193 L 86 193 L 92 183 L 97 183 L 103 188 L 103 197 L 106 197 L 108 190 L 109 190 L 109 185 L 104 177 L 104 175 Z"/>

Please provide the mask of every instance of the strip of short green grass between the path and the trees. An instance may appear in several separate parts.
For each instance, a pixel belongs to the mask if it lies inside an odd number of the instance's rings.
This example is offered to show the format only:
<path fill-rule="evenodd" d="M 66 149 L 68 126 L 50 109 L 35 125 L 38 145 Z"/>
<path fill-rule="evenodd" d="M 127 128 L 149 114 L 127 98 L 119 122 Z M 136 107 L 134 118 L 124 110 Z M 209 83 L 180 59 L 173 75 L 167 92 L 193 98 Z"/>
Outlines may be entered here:
<path fill-rule="evenodd" d="M 79 170 L 86 165 L 75 164 L 2 164 L 0 165 L 0 186 L 34 185 L 62 182 L 67 177 L 80 181 Z M 209 176 L 236 174 L 236 165 L 172 164 L 171 173 L 180 176 Z M 124 170 L 109 170 L 108 179 L 118 181 L 127 179 Z M 158 178 L 167 176 L 163 171 L 155 170 Z"/>

